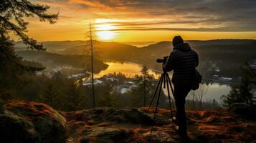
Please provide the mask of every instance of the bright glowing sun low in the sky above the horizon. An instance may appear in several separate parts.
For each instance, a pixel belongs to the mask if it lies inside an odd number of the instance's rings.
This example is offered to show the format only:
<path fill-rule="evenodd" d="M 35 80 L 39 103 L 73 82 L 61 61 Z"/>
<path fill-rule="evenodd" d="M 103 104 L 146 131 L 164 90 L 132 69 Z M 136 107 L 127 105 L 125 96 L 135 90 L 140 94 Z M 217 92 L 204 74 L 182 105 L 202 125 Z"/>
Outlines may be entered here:
<path fill-rule="evenodd" d="M 101 41 L 110 41 L 115 39 L 116 32 L 112 31 L 115 29 L 115 26 L 111 24 L 96 24 L 95 30 L 96 30 L 96 36 Z"/>

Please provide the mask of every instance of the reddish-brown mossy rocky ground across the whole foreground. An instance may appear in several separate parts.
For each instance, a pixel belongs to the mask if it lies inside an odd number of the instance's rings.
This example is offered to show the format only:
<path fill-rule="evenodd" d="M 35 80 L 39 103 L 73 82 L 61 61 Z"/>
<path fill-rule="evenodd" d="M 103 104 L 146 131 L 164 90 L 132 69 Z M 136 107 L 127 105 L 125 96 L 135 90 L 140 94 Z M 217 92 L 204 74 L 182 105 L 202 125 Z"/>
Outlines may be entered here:
<path fill-rule="evenodd" d="M 11 101 L 0 106 L 0 141 L 146 143 L 153 124 L 153 109 L 150 114 L 146 109 L 102 107 L 59 114 L 45 104 Z M 224 110 L 186 113 L 191 142 L 256 142 L 255 121 Z M 180 142 L 169 110 L 158 109 L 150 142 Z"/>

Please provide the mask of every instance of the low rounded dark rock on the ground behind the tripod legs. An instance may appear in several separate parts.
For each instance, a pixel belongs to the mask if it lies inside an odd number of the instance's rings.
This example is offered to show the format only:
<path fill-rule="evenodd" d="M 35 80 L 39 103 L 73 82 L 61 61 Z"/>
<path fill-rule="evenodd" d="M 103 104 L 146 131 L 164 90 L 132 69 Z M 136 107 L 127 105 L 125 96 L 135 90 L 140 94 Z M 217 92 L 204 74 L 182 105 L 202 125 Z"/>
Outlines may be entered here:
<path fill-rule="evenodd" d="M 103 115 L 103 119 L 108 122 L 117 122 L 125 124 L 143 124 L 148 125 L 153 123 L 153 117 L 143 112 L 141 109 L 108 109 Z M 166 124 L 161 118 L 156 117 L 156 124 Z"/>

